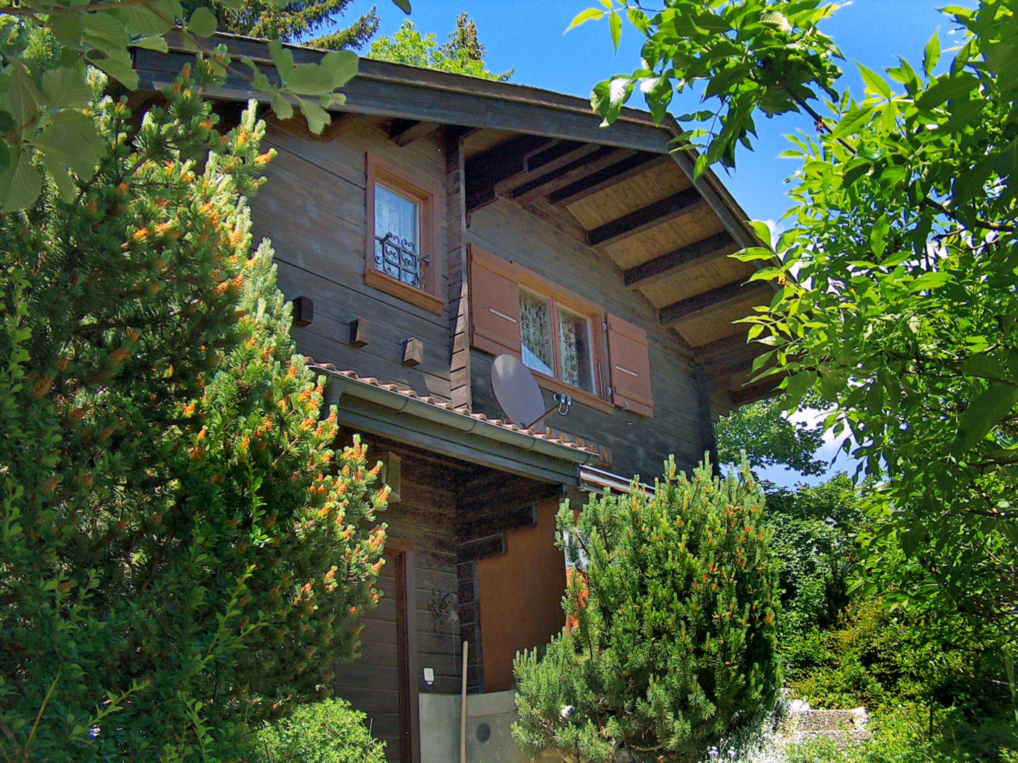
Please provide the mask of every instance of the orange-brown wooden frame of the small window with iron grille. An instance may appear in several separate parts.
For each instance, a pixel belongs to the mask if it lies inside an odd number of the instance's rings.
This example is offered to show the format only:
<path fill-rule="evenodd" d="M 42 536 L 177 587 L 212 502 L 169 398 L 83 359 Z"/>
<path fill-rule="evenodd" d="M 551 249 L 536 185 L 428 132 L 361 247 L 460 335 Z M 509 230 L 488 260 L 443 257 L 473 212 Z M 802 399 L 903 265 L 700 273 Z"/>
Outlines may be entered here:
<path fill-rule="evenodd" d="M 365 165 L 364 283 L 429 312 L 441 315 L 445 310 L 445 299 L 442 296 L 442 229 L 438 215 L 438 204 L 442 191 L 437 185 L 411 175 L 373 154 L 365 155 Z M 420 256 L 431 256 L 431 262 L 423 270 L 423 288 L 410 286 L 375 268 L 376 183 L 381 183 L 420 206 L 417 231 L 418 251 Z"/>

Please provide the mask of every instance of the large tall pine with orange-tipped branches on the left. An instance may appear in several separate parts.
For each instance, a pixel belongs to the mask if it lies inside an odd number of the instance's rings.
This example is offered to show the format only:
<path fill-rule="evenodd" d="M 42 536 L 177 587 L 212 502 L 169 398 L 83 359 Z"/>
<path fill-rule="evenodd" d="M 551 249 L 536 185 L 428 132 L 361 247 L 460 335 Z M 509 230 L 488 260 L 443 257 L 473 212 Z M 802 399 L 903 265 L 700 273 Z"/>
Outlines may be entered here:
<path fill-rule="evenodd" d="M 105 78 L 92 72 L 98 93 Z M 0 215 L 0 757 L 241 760 L 327 695 L 379 594 L 387 491 L 332 444 L 199 58 L 88 181 Z M 80 112 L 79 112 L 80 113 Z"/>

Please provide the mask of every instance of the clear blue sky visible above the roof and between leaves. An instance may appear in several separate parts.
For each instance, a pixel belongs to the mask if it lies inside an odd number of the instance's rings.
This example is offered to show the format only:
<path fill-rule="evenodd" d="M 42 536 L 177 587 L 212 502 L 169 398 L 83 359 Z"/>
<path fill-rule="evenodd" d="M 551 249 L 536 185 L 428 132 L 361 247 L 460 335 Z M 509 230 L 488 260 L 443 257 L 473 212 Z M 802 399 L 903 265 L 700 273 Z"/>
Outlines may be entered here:
<path fill-rule="evenodd" d="M 411 0 L 410 19 L 422 33 L 435 33 L 445 42 L 455 26 L 456 16 L 466 11 L 477 24 L 480 42 L 488 48 L 489 69 L 505 71 L 515 67 L 513 82 L 586 98 L 590 87 L 613 74 L 632 71 L 639 62 L 640 37 L 624 25 L 618 55 L 613 56 L 606 22 L 587 22 L 568 34 L 566 26 L 579 11 L 599 5 L 597 0 Z M 840 86 L 851 87 L 861 97 L 862 80 L 854 61 L 883 71 L 896 65 L 901 55 L 915 64 L 922 59 L 922 49 L 940 28 L 944 49 L 942 68 L 950 61 L 948 53 L 955 43 L 950 34 L 950 19 L 937 11 L 931 0 L 855 0 L 840 9 L 824 26 L 847 61 Z M 956 5 L 971 6 L 971 0 L 955 0 Z M 380 34 L 391 35 L 405 16 L 390 0 L 355 0 L 348 17 L 378 7 L 382 16 Z M 653 0 L 645 5 L 653 6 Z M 916 65 L 916 69 L 918 69 Z M 642 107 L 634 97 L 631 105 Z M 695 98 L 678 99 L 673 112 L 696 110 Z M 808 118 L 789 115 L 757 122 L 759 139 L 756 151 L 740 149 L 737 169 L 722 177 L 750 218 L 770 223 L 778 221 L 789 207 L 785 179 L 795 165 L 777 158 L 787 148 L 784 135 L 796 129 L 812 130 Z M 821 458 L 831 460 L 837 444 L 829 441 Z M 854 470 L 844 456 L 836 469 Z M 782 469 L 766 470 L 765 476 L 779 484 L 805 481 L 798 474 Z M 808 481 L 818 481 L 817 478 Z"/>

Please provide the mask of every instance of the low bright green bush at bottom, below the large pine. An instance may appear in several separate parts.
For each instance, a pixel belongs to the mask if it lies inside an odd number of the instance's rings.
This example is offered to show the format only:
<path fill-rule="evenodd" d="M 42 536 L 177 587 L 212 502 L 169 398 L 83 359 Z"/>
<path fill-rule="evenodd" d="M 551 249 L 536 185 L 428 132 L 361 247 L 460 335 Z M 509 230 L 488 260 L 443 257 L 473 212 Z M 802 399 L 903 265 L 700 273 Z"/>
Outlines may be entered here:
<path fill-rule="evenodd" d="M 341 699 L 298 707 L 259 731 L 250 763 L 385 763 L 385 743 Z"/>

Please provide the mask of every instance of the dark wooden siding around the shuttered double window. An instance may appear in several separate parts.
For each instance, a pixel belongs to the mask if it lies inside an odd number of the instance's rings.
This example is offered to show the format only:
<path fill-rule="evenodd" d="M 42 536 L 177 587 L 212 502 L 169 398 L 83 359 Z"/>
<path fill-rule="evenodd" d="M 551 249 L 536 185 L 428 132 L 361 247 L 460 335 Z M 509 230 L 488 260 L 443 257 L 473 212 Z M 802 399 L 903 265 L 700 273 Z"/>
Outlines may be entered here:
<path fill-rule="evenodd" d="M 607 256 L 583 246 L 568 233 L 505 199 L 470 215 L 466 240 L 512 259 L 540 276 L 576 292 L 625 320 L 641 326 L 649 340 L 654 418 L 616 409 L 607 414 L 574 403 L 567 416 L 553 414 L 548 424 L 609 446 L 611 470 L 653 479 L 662 462 L 674 454 L 678 465 L 691 469 L 709 445 L 701 433 L 701 411 L 688 348 L 658 325 L 657 311 L 623 285 L 621 271 Z M 601 327 L 597 327 L 600 331 Z M 501 417 L 492 395 L 493 357 L 471 351 L 473 408 Z M 551 393 L 545 392 L 551 407 Z"/>

